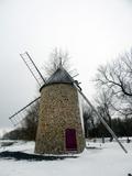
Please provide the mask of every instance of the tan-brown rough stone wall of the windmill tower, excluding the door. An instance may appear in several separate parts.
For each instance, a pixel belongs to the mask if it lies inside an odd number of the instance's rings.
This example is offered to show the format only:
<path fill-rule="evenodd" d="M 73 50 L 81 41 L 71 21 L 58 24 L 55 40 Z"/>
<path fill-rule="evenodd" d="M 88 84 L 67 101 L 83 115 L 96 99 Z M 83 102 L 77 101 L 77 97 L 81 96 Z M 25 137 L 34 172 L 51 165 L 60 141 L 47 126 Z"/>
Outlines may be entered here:
<path fill-rule="evenodd" d="M 41 90 L 35 153 L 65 154 L 65 130 L 75 129 L 77 151 L 82 152 L 82 133 L 77 90 L 69 84 L 53 84 Z"/>

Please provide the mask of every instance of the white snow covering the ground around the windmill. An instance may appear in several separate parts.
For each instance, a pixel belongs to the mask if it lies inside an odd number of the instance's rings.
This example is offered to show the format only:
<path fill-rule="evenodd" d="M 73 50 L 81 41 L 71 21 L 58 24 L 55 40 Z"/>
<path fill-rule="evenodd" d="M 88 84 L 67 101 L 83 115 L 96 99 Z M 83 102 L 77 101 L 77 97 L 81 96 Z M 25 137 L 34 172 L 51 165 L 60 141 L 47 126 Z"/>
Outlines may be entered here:
<path fill-rule="evenodd" d="M 1 143 L 2 141 L 0 141 Z M 9 141 L 6 141 L 9 142 Z M 11 141 L 10 141 L 11 142 Z M 14 161 L 0 158 L 1 176 L 128 176 L 132 174 L 132 142 L 123 145 L 129 151 L 125 154 L 113 142 L 87 141 L 87 146 L 77 158 L 63 161 Z M 2 151 L 22 151 L 33 153 L 34 142 L 15 141 L 13 145 L 0 147 Z"/>

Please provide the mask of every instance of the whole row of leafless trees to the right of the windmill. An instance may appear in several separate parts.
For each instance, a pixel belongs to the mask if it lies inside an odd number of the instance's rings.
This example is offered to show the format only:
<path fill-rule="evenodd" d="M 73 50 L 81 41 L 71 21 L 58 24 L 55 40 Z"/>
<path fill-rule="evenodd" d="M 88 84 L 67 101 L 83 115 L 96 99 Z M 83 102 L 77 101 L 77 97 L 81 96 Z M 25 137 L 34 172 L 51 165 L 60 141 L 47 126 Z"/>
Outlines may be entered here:
<path fill-rule="evenodd" d="M 95 106 L 98 112 L 112 129 L 116 127 L 113 123 L 117 122 L 113 118 L 120 118 L 122 120 L 122 131 L 127 135 L 128 121 L 132 121 L 132 50 L 120 55 L 112 63 L 100 66 L 95 82 L 98 90 L 95 97 Z M 85 125 L 88 124 L 86 128 L 88 131 L 89 119 L 94 119 L 95 114 L 91 110 L 85 113 Z M 100 122 L 97 122 L 96 127 L 99 124 Z M 116 131 L 116 129 L 113 130 Z"/>

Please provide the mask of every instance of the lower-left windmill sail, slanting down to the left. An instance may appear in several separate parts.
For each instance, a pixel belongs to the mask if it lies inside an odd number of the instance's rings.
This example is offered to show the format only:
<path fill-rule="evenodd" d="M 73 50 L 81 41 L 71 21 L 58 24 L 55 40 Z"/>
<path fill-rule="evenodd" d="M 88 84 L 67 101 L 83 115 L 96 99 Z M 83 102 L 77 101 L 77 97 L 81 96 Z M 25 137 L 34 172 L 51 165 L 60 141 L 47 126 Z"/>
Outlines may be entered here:
<path fill-rule="evenodd" d="M 31 106 L 35 105 L 36 102 L 38 102 L 41 97 L 37 97 L 35 100 L 31 101 L 29 105 L 26 105 L 25 107 L 23 107 L 22 109 L 20 109 L 18 112 L 15 112 L 14 114 L 12 114 L 11 117 L 9 117 L 9 120 L 12 122 L 12 124 L 14 127 L 21 125 L 22 122 L 24 121 L 29 109 L 31 108 Z"/>

